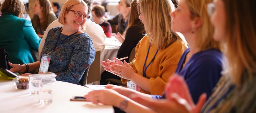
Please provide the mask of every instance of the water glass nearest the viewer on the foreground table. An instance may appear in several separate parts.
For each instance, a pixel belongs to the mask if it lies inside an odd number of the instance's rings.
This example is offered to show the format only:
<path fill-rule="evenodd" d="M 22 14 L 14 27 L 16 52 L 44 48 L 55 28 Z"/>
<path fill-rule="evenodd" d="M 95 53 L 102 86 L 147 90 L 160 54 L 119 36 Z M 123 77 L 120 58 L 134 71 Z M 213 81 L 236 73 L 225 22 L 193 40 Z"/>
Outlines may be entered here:
<path fill-rule="evenodd" d="M 52 103 L 52 83 L 42 84 L 39 88 L 40 104 Z"/>

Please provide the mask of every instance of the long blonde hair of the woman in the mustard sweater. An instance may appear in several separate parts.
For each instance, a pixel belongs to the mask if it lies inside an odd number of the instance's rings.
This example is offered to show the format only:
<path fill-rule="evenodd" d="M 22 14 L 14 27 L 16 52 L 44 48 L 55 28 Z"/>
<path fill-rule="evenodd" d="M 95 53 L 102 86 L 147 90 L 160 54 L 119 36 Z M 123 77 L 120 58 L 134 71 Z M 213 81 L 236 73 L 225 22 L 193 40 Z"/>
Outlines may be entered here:
<path fill-rule="evenodd" d="M 169 0 L 137 0 L 142 9 L 145 30 L 149 41 L 158 49 L 164 49 L 180 37 L 171 30 L 171 5 Z M 174 7 L 174 5 L 172 5 Z"/>

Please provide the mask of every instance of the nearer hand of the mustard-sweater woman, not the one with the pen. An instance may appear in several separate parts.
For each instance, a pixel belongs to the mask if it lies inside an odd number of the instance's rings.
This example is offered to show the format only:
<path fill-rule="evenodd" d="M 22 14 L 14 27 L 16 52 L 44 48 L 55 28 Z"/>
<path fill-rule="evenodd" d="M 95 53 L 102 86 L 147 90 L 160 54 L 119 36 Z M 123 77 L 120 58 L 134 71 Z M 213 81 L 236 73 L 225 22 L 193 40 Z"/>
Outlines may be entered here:
<path fill-rule="evenodd" d="M 126 61 L 124 61 L 124 64 L 125 65 L 114 64 L 113 66 L 110 66 L 111 73 L 119 77 L 133 81 L 132 79 L 136 76 L 136 73 Z"/>

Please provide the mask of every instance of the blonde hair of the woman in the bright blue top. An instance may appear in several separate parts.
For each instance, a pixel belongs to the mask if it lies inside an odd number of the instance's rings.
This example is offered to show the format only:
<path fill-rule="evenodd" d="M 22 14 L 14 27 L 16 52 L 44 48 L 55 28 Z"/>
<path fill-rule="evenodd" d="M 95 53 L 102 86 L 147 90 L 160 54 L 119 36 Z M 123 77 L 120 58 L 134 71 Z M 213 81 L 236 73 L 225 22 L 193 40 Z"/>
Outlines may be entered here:
<path fill-rule="evenodd" d="M 202 25 L 195 31 L 196 44 L 201 51 L 210 48 L 220 49 L 220 43 L 213 38 L 214 26 L 211 24 L 209 14 L 207 12 L 207 4 L 213 0 L 186 0 L 186 4 L 190 10 L 191 19 L 201 18 Z"/>

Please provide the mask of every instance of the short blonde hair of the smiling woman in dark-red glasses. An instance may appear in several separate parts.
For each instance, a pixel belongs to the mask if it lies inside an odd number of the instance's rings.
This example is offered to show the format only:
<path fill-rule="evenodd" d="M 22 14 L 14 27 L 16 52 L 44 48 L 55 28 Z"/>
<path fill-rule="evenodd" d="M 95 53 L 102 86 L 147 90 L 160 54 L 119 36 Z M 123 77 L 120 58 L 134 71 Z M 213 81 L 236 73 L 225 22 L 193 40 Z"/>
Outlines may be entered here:
<path fill-rule="evenodd" d="M 65 17 L 64 17 L 65 13 L 68 13 L 68 11 L 66 11 L 66 10 L 70 10 L 76 4 L 83 4 L 85 9 L 86 9 L 85 12 L 86 13 L 88 12 L 88 6 L 83 0 L 68 0 L 64 3 L 63 7 L 60 10 L 60 13 L 59 13 L 59 16 L 58 16 L 58 22 L 59 23 L 66 24 L 66 20 L 65 20 Z"/>

